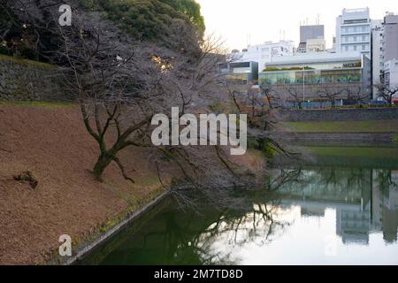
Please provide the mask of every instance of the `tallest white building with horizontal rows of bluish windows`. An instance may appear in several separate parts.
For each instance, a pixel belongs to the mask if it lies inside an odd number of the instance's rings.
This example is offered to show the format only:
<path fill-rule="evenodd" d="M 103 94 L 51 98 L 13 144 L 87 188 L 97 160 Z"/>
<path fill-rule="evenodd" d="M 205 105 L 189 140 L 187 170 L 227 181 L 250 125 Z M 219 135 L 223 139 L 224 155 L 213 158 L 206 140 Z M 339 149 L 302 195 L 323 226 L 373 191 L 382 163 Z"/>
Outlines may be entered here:
<path fill-rule="evenodd" d="M 369 8 L 344 9 L 336 19 L 336 52 L 358 52 L 371 58 Z"/>

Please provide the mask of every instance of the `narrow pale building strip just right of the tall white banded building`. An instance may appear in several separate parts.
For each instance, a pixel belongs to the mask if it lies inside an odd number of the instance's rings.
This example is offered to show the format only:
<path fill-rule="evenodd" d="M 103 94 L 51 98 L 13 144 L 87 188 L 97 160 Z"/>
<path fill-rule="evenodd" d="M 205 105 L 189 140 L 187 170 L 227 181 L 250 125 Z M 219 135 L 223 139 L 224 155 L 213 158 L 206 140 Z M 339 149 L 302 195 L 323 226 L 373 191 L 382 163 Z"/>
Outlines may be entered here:
<path fill-rule="evenodd" d="M 383 34 L 384 25 L 382 20 L 371 21 L 371 80 L 373 84 L 372 97 L 373 99 L 378 98 L 377 86 L 382 82 L 384 60 L 383 60 Z"/>

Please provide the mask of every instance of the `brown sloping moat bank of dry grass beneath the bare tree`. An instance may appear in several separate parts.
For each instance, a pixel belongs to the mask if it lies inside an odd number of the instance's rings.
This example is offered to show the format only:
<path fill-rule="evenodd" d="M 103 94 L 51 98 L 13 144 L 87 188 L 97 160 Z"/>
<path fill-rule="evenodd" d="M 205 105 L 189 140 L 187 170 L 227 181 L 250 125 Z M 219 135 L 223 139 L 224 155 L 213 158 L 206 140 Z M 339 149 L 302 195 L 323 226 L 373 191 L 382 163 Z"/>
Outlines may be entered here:
<path fill-rule="evenodd" d="M 165 192 L 148 151 L 130 148 L 119 158 L 135 184 L 116 165 L 103 182 L 88 172 L 98 149 L 73 103 L 0 103 L 0 264 L 62 264 L 57 256 L 64 234 L 71 236 L 73 256 L 84 252 L 134 218 Z M 134 160 L 134 163 L 131 162 Z M 252 151 L 241 168 L 261 168 Z M 165 168 L 164 181 L 173 173 Z M 37 187 L 14 180 L 31 172 Z"/>

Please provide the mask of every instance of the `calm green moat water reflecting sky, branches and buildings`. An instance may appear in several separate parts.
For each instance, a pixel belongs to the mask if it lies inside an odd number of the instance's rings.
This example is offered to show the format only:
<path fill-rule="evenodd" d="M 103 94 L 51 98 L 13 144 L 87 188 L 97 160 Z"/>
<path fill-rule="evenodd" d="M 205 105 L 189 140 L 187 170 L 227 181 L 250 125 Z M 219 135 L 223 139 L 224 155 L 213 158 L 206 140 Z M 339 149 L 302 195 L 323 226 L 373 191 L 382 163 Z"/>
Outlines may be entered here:
<path fill-rule="evenodd" d="M 275 170 L 241 206 L 200 212 L 168 199 L 82 263 L 398 264 L 398 171 Z"/>

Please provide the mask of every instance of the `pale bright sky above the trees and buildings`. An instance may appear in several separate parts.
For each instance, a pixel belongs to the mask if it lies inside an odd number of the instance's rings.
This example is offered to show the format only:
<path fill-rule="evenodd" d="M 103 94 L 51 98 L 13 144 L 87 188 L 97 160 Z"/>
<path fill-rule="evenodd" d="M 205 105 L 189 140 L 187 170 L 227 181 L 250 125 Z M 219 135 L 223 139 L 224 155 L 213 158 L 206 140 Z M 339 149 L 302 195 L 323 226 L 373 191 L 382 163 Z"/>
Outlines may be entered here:
<path fill-rule="evenodd" d="M 243 49 L 279 39 L 298 45 L 300 22 L 308 19 L 325 25 L 327 48 L 332 47 L 336 17 L 343 8 L 371 9 L 371 19 L 383 19 L 386 11 L 398 13 L 398 0 L 196 0 L 202 6 L 206 33 L 222 37 L 226 48 Z M 285 31 L 285 32 L 283 32 Z M 284 35 L 285 34 L 285 35 Z"/>

